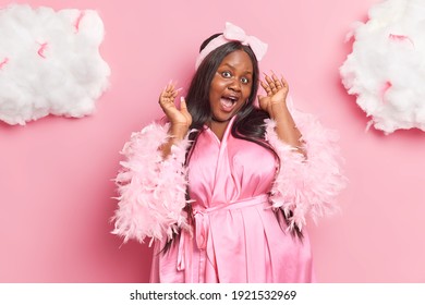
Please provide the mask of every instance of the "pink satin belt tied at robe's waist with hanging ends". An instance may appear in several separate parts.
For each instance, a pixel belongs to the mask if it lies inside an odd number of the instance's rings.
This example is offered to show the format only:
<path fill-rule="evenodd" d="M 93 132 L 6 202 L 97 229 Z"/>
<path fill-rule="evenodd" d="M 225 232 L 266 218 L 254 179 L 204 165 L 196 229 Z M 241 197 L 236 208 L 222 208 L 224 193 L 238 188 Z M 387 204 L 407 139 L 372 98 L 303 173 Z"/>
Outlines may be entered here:
<path fill-rule="evenodd" d="M 241 199 L 238 202 L 231 202 L 230 204 L 222 204 L 211 208 L 206 209 L 194 209 L 193 217 L 195 219 L 195 240 L 196 245 L 199 249 L 206 249 L 208 241 L 208 231 L 209 231 L 209 216 L 214 212 L 220 210 L 233 210 L 241 209 L 245 207 L 256 206 L 268 202 L 268 195 L 263 194 L 255 197 L 250 197 Z M 185 249 L 184 249 L 184 240 L 186 239 L 186 233 L 182 233 L 179 241 L 179 251 L 178 251 L 178 270 L 185 269 Z"/>

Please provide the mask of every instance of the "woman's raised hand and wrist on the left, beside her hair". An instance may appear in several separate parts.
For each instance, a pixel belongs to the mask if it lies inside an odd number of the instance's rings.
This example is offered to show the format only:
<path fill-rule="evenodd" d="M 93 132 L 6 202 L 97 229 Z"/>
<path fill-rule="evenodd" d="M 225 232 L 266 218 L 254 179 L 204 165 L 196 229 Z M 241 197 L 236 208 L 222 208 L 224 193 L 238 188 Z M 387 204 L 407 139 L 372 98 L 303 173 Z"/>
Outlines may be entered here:
<path fill-rule="evenodd" d="M 169 83 L 159 96 L 159 106 L 171 123 L 170 132 L 178 138 L 183 138 L 192 124 L 192 115 L 187 111 L 184 98 L 181 98 L 180 109 L 174 100 L 180 89 L 175 89 L 174 84 Z"/>

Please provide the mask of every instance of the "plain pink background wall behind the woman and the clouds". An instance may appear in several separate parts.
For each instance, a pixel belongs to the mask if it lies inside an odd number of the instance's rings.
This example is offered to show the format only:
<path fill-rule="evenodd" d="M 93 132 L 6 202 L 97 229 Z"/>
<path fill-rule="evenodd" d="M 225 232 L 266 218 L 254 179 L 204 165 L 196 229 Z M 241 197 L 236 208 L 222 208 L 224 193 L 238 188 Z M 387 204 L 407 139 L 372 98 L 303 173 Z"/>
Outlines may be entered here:
<path fill-rule="evenodd" d="M 147 245 L 109 233 L 119 150 L 160 115 L 170 80 L 187 87 L 201 41 L 226 21 L 267 41 L 262 69 L 283 73 L 296 107 L 340 133 L 350 179 L 342 211 L 308 227 L 318 281 L 425 281 L 425 134 L 365 132 L 338 72 L 351 23 L 378 0 L 26 2 L 97 10 L 112 75 L 92 117 L 0 123 L 0 282 L 148 280 Z"/>

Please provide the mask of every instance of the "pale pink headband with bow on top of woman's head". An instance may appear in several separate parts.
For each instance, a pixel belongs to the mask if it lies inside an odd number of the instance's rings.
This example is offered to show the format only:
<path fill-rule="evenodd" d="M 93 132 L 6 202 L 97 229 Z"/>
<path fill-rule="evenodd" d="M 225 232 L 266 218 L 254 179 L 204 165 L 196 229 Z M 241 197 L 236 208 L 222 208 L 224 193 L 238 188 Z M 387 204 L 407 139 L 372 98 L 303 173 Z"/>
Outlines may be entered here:
<path fill-rule="evenodd" d="M 234 24 L 231 24 L 230 22 L 227 22 L 223 34 L 209 41 L 209 44 L 201 51 L 196 60 L 195 68 L 197 69 L 201 62 L 212 50 L 229 41 L 240 41 L 244 46 L 250 46 L 255 57 L 257 58 L 257 61 L 260 61 L 267 52 L 267 44 L 263 42 L 255 36 L 246 35 L 242 28 L 235 26 Z"/>

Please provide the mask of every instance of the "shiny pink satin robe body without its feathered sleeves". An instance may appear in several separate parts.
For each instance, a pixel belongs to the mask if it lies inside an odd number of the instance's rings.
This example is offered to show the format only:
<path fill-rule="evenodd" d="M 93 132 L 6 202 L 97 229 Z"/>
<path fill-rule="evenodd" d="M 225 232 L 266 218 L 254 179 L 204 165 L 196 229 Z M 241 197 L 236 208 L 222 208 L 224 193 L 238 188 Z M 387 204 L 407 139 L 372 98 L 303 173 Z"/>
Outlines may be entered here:
<path fill-rule="evenodd" d="M 151 282 L 311 282 L 306 232 L 300 241 L 268 200 L 277 161 L 266 148 L 231 135 L 199 134 L 189 164 L 195 228 L 171 249 L 156 241 Z M 284 162 L 284 160 L 282 160 Z"/>

